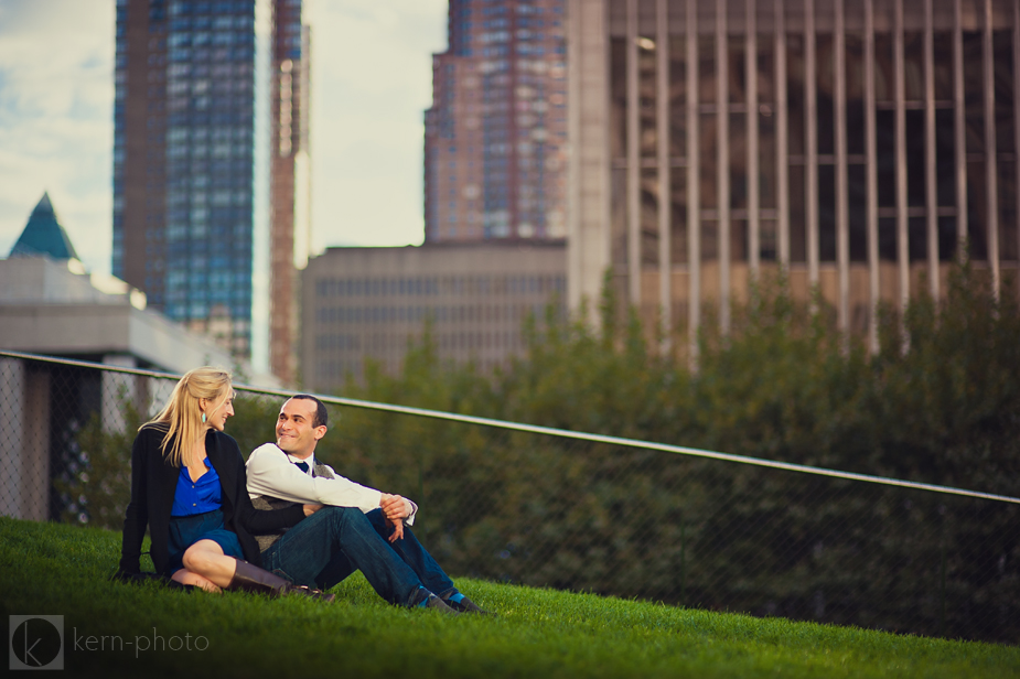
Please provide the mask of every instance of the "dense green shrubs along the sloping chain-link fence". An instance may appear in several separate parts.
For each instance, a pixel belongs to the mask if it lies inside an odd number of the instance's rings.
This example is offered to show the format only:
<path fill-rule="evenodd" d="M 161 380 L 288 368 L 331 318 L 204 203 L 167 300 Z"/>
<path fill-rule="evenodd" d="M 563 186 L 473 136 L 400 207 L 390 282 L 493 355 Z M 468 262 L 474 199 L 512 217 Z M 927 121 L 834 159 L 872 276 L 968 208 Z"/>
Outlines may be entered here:
<path fill-rule="evenodd" d="M 945 300 L 883 310 L 874 355 L 783 279 L 734 310 L 727 336 L 701 334 L 694 371 L 610 285 L 599 311 L 532 319 L 526 351 L 492 375 L 441 363 L 427 328 L 399 375 L 371 367 L 343 396 L 1020 496 L 1020 313 L 969 265 Z M 238 401 L 243 450 L 271 439 L 277 408 Z M 333 418 L 319 456 L 415 498 L 416 534 L 453 573 L 1020 637 L 1017 505 L 353 408 Z M 104 449 L 122 464 L 124 442 L 108 443 L 90 440 L 93 464 Z"/>

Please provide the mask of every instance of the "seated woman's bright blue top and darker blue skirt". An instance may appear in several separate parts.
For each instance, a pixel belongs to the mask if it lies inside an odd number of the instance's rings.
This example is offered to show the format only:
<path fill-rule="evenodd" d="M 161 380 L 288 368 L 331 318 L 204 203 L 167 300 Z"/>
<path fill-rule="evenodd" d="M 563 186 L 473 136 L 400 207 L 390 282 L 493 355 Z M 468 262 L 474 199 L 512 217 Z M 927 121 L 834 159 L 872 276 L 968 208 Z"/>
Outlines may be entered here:
<path fill-rule="evenodd" d="M 212 540 L 227 557 L 244 559 L 237 535 L 223 525 L 223 488 L 219 475 L 203 460 L 206 472 L 197 481 L 191 479 L 186 466 L 181 466 L 178 486 L 170 511 L 170 568 L 175 573 L 184 568 L 184 552 L 198 540 Z"/>

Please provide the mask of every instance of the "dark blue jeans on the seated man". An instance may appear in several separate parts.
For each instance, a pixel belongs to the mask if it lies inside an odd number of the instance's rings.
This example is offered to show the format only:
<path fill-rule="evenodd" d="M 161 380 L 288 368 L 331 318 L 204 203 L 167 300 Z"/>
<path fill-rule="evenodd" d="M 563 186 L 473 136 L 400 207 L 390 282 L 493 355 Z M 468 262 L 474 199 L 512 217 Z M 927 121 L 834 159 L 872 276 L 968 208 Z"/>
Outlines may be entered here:
<path fill-rule="evenodd" d="M 386 541 L 391 532 L 382 509 L 363 514 L 355 507 L 323 507 L 264 551 L 262 568 L 322 590 L 359 570 L 379 596 L 404 606 L 419 603 L 421 586 L 440 596 L 453 590 L 407 526 L 404 538 L 393 543 Z"/>

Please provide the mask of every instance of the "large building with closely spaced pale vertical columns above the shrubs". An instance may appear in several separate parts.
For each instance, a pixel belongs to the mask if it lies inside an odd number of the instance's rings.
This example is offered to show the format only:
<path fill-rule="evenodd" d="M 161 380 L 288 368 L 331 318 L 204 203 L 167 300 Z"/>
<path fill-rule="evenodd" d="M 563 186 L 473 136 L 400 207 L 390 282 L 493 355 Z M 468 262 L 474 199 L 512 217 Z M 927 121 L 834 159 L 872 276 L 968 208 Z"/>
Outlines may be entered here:
<path fill-rule="evenodd" d="M 1014 0 L 568 0 L 569 299 L 692 341 L 785 267 L 876 346 L 966 242 L 1017 285 Z"/>

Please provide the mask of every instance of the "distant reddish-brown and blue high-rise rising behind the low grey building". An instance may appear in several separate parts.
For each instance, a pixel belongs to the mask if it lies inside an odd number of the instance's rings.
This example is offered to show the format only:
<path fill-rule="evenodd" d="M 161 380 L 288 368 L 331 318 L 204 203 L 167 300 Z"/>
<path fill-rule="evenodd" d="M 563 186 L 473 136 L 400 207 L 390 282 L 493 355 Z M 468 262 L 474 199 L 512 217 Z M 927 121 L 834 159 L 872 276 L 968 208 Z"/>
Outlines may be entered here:
<path fill-rule="evenodd" d="M 563 0 L 450 0 L 426 112 L 426 242 L 562 239 Z"/>

